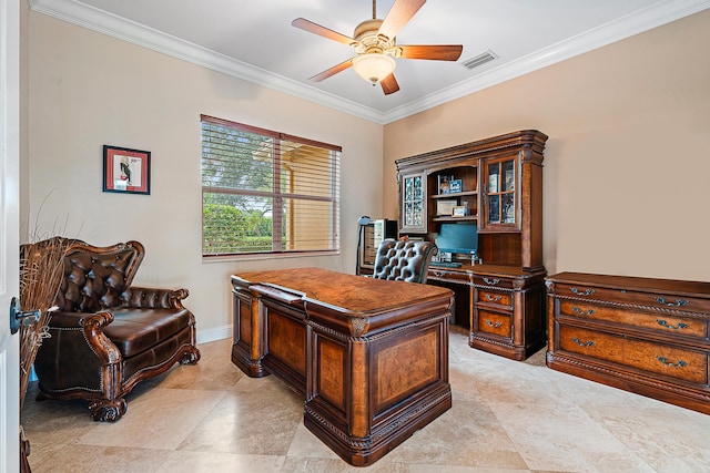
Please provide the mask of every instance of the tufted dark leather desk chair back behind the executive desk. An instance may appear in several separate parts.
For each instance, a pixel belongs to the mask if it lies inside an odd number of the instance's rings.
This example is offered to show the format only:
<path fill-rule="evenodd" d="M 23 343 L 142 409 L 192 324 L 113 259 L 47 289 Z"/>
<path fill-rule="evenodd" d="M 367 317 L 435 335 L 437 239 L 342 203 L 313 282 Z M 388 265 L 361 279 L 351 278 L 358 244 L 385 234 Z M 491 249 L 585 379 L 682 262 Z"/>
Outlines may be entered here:
<path fill-rule="evenodd" d="M 384 239 L 377 249 L 373 277 L 424 284 L 429 263 L 437 253 L 433 241 Z"/>

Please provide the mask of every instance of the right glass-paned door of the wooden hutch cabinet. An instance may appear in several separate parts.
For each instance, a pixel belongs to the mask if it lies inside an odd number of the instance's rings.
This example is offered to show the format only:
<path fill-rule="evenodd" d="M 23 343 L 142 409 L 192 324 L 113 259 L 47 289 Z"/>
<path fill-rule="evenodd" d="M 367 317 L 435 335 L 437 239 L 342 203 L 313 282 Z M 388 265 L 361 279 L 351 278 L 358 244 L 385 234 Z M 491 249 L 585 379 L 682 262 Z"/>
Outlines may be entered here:
<path fill-rule="evenodd" d="M 484 163 L 484 226 L 517 227 L 516 158 Z"/>

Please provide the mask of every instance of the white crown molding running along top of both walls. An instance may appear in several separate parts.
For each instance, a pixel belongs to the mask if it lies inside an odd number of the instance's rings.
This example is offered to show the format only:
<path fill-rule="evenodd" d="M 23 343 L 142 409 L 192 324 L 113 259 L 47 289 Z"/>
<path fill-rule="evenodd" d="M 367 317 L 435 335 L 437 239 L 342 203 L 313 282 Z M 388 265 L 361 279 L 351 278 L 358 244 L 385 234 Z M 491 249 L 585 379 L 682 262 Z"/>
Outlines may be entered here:
<path fill-rule="evenodd" d="M 28 3 L 32 11 L 383 125 L 710 8 L 710 0 L 662 0 L 383 113 L 78 0 L 28 0 Z"/>

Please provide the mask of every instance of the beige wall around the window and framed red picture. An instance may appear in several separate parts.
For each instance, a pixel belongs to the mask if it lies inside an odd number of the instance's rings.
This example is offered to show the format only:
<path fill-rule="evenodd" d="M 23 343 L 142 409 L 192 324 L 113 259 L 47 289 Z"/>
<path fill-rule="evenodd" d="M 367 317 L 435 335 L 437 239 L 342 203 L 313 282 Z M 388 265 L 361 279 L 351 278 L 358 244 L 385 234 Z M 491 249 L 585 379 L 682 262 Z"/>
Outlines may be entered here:
<path fill-rule="evenodd" d="M 357 217 L 382 210 L 382 125 L 41 13 L 30 12 L 29 25 L 22 218 L 31 236 L 142 241 L 135 282 L 189 288 L 201 340 L 231 336 L 231 274 L 354 271 Z M 201 113 L 343 146 L 341 255 L 202 261 Z M 151 151 L 150 196 L 101 191 L 104 144 Z"/>

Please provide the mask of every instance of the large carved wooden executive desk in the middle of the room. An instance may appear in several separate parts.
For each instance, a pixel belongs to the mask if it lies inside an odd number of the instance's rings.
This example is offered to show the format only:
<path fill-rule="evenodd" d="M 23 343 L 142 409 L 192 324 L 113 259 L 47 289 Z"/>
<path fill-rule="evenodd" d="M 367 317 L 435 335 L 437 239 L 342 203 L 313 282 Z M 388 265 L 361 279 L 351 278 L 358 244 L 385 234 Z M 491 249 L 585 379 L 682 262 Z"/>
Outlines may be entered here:
<path fill-rule="evenodd" d="M 346 462 L 381 459 L 452 407 L 445 288 L 318 268 L 232 276 L 232 361 L 305 399 Z"/>

